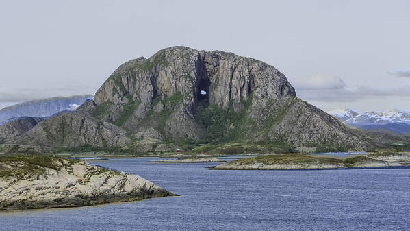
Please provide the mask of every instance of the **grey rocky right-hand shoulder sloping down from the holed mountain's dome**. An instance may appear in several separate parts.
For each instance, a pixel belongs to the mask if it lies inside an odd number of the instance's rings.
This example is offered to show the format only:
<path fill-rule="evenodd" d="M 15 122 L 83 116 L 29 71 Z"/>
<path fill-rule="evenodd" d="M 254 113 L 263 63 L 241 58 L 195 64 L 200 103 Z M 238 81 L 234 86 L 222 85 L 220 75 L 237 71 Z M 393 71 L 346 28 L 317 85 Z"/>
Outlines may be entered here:
<path fill-rule="evenodd" d="M 255 105 L 250 116 L 264 132 L 255 132 L 257 141 L 282 139 L 296 147 L 331 144 L 348 149 L 368 149 L 371 138 L 351 129 L 335 117 L 298 97 L 282 97 L 266 105 Z M 268 125 L 268 126 L 266 126 Z"/>

